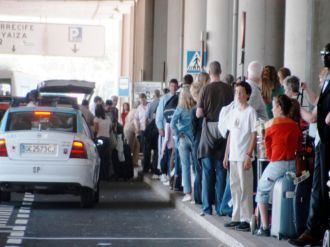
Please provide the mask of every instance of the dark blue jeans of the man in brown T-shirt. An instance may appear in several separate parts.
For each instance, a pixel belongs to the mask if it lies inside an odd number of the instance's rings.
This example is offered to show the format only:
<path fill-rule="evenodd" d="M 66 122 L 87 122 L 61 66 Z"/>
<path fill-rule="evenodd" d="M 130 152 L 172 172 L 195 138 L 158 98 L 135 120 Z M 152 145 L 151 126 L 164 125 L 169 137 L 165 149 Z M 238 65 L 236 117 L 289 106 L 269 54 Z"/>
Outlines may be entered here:
<path fill-rule="evenodd" d="M 211 157 L 202 158 L 202 208 L 207 214 L 212 214 L 212 193 L 215 191 L 215 209 L 220 212 L 223 194 L 226 187 L 226 173 L 222 160 Z M 213 180 L 215 173 L 215 181 Z"/>

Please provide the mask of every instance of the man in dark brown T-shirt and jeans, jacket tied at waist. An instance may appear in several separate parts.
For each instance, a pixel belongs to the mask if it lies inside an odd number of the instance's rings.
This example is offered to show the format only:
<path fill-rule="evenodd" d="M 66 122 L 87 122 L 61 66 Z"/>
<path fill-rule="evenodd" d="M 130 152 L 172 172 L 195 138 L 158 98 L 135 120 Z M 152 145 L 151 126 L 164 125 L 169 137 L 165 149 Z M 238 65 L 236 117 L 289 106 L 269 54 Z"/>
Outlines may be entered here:
<path fill-rule="evenodd" d="M 226 149 L 225 139 L 211 133 L 217 128 L 222 107 L 233 101 L 233 89 L 220 81 L 221 65 L 213 61 L 209 65 L 211 82 L 202 88 L 197 103 L 196 117 L 203 118 L 198 159 L 202 160 L 202 208 L 201 216 L 212 214 L 212 199 L 215 190 L 215 206 L 220 212 L 223 192 L 226 185 L 226 170 L 222 166 Z M 214 128 L 215 127 L 215 128 Z M 215 176 L 215 179 L 214 179 Z"/>

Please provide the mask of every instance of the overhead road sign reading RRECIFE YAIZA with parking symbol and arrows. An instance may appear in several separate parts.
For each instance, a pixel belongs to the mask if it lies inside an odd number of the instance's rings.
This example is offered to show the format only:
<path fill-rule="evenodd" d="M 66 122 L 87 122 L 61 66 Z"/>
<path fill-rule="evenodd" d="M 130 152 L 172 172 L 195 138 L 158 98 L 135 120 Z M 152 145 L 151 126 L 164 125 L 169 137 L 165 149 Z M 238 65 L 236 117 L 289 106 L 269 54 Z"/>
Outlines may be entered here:
<path fill-rule="evenodd" d="M 103 26 L 0 21 L 0 54 L 101 57 Z"/>

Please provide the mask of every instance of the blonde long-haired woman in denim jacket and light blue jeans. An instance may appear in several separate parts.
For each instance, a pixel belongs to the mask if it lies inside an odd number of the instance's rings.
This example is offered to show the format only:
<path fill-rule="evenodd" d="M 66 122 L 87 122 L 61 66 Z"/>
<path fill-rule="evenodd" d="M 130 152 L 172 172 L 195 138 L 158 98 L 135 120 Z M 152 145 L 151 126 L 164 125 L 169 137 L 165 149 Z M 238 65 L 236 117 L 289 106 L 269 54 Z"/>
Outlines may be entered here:
<path fill-rule="evenodd" d="M 179 149 L 181 159 L 183 193 L 185 194 L 182 199 L 183 202 L 192 200 L 190 156 L 192 157 L 194 164 L 193 167 L 196 167 L 195 164 L 197 162 L 196 155 L 194 155 L 195 151 L 193 147 L 191 125 L 191 110 L 195 104 L 196 103 L 190 94 L 189 87 L 184 86 L 180 92 L 178 107 L 171 120 L 173 134 L 178 137 L 176 145 Z"/>

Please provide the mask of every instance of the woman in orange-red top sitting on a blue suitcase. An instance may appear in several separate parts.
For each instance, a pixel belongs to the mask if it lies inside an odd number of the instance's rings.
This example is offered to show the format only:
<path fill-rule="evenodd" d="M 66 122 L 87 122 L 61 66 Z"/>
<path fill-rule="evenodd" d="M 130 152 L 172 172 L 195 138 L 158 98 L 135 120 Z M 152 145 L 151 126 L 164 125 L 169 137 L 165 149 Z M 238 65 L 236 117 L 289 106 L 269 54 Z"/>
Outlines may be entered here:
<path fill-rule="evenodd" d="M 288 171 L 295 171 L 295 154 L 298 150 L 301 131 L 297 122 L 289 117 L 291 99 L 278 95 L 273 99 L 274 118 L 266 123 L 265 146 L 270 163 L 263 172 L 257 189 L 256 202 L 261 215 L 257 236 L 269 236 L 268 201 L 275 181 Z"/>

